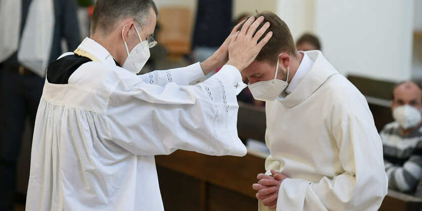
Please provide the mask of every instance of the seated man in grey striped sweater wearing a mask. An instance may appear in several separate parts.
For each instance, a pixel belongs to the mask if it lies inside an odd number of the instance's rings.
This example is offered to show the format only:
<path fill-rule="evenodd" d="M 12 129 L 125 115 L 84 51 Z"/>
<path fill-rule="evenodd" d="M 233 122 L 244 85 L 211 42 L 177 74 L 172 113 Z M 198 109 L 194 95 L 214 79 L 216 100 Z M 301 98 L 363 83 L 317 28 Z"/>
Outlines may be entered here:
<path fill-rule="evenodd" d="M 412 81 L 393 90 L 391 110 L 395 121 L 384 126 L 384 164 L 388 187 L 412 194 L 422 171 L 422 90 Z"/>

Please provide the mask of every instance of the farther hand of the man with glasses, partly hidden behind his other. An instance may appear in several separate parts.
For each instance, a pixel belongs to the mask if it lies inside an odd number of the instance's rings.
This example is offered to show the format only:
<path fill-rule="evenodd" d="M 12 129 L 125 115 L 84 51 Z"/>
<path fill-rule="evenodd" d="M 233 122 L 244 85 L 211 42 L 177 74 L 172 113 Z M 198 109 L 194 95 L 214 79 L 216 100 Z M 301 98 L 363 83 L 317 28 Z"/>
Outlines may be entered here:
<path fill-rule="evenodd" d="M 237 26 L 231 30 L 230 35 L 225 39 L 223 45 L 218 48 L 218 50 L 207 60 L 201 62 L 201 68 L 205 75 L 210 73 L 211 71 L 223 66 L 228 61 L 228 46 L 230 45 L 230 40 L 233 35 L 236 34 L 239 27 L 245 22 L 246 20 L 239 23 Z"/>

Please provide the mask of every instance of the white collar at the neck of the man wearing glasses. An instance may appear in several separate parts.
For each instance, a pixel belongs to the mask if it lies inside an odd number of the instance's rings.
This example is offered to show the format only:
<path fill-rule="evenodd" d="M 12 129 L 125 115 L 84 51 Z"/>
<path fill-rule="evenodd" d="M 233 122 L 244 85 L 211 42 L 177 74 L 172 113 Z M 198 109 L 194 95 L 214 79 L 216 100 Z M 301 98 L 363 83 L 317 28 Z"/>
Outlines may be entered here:
<path fill-rule="evenodd" d="M 82 43 L 78 46 L 78 49 L 89 53 L 101 63 L 116 65 L 113 57 L 110 55 L 107 49 L 89 37 L 86 37 L 82 41 Z"/>

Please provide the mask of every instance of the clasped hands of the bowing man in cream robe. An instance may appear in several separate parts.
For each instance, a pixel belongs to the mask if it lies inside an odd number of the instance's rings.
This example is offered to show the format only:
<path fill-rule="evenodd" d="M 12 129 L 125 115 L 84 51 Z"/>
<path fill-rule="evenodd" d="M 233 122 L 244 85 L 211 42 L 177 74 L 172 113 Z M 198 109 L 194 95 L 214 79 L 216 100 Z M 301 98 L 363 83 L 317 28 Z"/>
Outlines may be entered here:
<path fill-rule="evenodd" d="M 271 174 L 273 177 L 265 174 L 259 174 L 257 176 L 259 181 L 257 184 L 253 184 L 252 188 L 258 191 L 256 197 L 261 199 L 262 204 L 268 206 L 270 209 L 275 209 L 277 206 L 280 184 L 288 177 L 274 170 L 271 170 Z"/>

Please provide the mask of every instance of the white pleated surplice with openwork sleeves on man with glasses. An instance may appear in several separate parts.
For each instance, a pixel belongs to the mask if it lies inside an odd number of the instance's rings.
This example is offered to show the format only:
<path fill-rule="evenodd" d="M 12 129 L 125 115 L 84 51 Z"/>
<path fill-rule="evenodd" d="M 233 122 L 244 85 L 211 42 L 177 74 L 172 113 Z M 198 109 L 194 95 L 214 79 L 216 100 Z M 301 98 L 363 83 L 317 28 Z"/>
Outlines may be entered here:
<path fill-rule="evenodd" d="M 236 129 L 246 85 L 235 67 L 207 80 L 199 63 L 136 76 L 92 39 L 79 49 L 99 62 L 68 84 L 45 81 L 26 210 L 163 210 L 154 155 L 246 154 Z"/>

